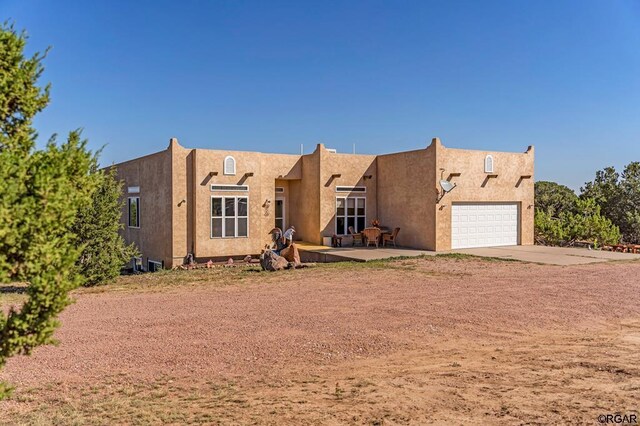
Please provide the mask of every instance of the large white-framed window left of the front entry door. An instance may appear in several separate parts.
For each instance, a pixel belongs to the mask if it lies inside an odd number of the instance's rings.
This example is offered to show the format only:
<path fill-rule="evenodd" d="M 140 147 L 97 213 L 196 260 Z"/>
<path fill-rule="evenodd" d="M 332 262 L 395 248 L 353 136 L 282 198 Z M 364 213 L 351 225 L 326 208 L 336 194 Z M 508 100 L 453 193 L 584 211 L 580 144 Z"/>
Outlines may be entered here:
<path fill-rule="evenodd" d="M 211 238 L 249 235 L 249 197 L 211 197 Z"/>

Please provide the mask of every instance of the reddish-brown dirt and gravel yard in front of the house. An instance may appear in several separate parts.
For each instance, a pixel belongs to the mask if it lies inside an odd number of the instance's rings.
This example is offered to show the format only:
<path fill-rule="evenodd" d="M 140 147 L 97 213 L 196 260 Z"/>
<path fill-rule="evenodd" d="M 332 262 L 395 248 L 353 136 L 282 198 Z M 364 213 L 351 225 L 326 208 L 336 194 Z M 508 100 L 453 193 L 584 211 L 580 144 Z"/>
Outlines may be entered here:
<path fill-rule="evenodd" d="M 638 414 L 640 262 L 161 272 L 76 292 L 2 424 L 597 424 Z M 20 296 L 0 295 L 0 303 Z"/>

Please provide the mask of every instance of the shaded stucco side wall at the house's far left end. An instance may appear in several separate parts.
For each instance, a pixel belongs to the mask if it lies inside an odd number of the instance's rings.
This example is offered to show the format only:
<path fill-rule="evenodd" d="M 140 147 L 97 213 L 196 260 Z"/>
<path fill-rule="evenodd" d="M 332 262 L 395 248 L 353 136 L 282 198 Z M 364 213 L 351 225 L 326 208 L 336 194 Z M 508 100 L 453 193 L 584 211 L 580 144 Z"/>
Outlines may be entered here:
<path fill-rule="evenodd" d="M 127 242 L 136 244 L 147 260 L 171 264 L 172 210 L 171 210 L 171 156 L 168 151 L 120 163 L 115 166 L 117 177 L 124 181 L 124 206 L 122 236 Z M 128 194 L 127 188 L 139 186 L 139 194 Z M 140 197 L 140 228 L 128 227 L 127 198 Z"/>

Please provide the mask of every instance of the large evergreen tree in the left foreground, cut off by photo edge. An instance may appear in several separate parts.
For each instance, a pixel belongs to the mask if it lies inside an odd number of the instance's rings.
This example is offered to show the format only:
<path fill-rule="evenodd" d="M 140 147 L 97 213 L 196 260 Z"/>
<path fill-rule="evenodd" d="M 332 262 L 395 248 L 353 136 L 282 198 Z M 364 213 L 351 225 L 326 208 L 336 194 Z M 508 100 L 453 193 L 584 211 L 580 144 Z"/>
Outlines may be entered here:
<path fill-rule="evenodd" d="M 0 25 L 0 282 L 26 282 L 27 300 L 0 310 L 0 368 L 52 342 L 57 315 L 82 277 L 72 227 L 95 187 L 95 157 L 79 132 L 36 150 L 34 116 L 49 102 L 38 86 L 43 54 L 25 57 L 27 37 Z M 0 398 L 9 388 L 0 384 Z"/>

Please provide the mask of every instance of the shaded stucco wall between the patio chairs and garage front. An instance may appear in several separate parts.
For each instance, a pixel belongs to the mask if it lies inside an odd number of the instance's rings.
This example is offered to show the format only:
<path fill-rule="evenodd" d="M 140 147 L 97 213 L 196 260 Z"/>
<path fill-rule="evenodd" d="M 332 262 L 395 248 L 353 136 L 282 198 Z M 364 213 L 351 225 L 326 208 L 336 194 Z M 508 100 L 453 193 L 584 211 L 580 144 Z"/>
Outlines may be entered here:
<path fill-rule="evenodd" d="M 377 163 L 382 225 L 400 227 L 399 245 L 435 250 L 435 150 L 379 155 Z"/>

